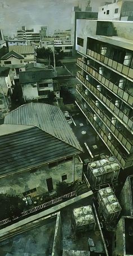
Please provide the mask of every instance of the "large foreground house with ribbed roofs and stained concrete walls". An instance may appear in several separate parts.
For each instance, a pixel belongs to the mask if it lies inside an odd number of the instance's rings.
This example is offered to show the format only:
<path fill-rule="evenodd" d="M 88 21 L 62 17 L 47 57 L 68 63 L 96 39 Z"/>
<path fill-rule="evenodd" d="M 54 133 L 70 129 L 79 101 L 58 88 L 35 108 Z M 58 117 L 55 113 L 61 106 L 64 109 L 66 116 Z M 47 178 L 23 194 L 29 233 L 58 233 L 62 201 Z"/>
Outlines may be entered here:
<path fill-rule="evenodd" d="M 59 107 L 22 105 L 7 114 L 0 130 L 2 193 L 41 194 L 59 181 L 82 180 L 82 148 Z"/>

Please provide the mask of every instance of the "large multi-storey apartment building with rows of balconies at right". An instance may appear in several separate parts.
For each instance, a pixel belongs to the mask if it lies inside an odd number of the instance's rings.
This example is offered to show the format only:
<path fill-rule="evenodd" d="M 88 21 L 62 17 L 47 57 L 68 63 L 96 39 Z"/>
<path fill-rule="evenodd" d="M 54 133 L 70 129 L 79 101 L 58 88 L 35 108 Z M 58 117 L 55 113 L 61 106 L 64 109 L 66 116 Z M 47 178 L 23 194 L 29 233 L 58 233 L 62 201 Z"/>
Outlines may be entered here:
<path fill-rule="evenodd" d="M 133 165 L 133 22 L 77 20 L 76 103 L 122 169 Z"/>

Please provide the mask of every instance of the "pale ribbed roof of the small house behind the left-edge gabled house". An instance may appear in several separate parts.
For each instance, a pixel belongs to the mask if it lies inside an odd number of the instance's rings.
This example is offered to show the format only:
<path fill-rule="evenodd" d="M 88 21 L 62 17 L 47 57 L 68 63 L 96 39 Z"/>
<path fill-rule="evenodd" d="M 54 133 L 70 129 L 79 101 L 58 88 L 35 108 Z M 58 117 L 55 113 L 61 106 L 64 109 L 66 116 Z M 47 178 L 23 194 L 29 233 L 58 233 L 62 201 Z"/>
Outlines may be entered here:
<path fill-rule="evenodd" d="M 15 52 L 20 54 L 34 54 L 34 46 L 33 45 L 10 45 L 9 52 L 11 50 L 15 50 Z"/>

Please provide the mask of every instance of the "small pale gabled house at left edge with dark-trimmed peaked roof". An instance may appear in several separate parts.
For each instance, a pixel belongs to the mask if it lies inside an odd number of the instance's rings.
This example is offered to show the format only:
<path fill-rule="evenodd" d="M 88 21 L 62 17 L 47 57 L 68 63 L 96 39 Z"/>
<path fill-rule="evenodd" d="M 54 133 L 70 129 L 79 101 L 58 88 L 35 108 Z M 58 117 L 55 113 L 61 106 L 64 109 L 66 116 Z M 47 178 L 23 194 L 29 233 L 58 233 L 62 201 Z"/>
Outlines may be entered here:
<path fill-rule="evenodd" d="M 9 53 L 1 57 L 1 66 L 24 64 L 24 56 L 11 50 Z"/>

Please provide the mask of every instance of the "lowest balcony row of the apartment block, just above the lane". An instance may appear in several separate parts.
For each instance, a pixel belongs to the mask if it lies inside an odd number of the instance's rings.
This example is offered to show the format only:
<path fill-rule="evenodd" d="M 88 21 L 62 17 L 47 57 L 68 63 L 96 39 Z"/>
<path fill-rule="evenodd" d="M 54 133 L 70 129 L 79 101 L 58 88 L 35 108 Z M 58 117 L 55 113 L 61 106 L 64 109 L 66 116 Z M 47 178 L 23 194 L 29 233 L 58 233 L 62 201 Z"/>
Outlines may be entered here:
<path fill-rule="evenodd" d="M 85 107 L 85 104 L 83 103 L 82 99 L 79 99 L 77 97 L 76 104 L 78 105 L 79 109 L 83 112 L 83 114 L 86 116 L 87 120 L 91 123 L 92 127 L 94 127 L 96 133 L 100 136 L 100 138 L 103 140 L 103 142 L 107 145 L 110 152 L 116 157 L 118 163 L 121 165 L 121 167 L 124 169 L 126 167 L 129 167 L 133 164 L 133 160 L 131 156 L 125 155 L 120 148 L 117 146 L 117 144 L 112 141 L 112 139 L 109 138 L 108 133 L 105 131 L 104 125 L 99 125 L 98 122 L 96 122 L 96 118 L 94 117 L 94 114 L 90 112 L 88 108 Z"/>

